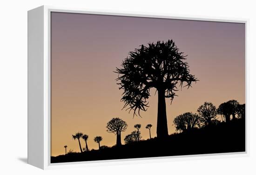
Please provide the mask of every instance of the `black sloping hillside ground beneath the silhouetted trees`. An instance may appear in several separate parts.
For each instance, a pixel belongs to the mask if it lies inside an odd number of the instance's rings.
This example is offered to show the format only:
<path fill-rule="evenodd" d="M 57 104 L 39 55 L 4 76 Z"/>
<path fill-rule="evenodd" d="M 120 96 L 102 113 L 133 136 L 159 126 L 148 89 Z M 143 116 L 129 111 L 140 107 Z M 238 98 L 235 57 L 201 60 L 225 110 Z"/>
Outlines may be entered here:
<path fill-rule="evenodd" d="M 172 134 L 165 140 L 153 138 L 138 143 L 125 144 L 83 153 L 69 153 L 51 157 L 51 163 L 111 160 L 158 156 L 182 156 L 245 151 L 245 121 L 205 127 L 187 133 Z"/>

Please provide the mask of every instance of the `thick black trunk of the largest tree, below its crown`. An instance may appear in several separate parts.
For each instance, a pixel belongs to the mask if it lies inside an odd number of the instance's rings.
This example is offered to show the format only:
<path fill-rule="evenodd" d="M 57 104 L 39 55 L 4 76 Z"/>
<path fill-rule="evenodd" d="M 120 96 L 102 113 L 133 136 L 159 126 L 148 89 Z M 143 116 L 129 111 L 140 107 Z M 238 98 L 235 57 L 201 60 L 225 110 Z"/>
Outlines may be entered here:
<path fill-rule="evenodd" d="M 158 109 L 157 109 L 157 126 L 156 134 L 159 138 L 168 136 L 166 104 L 165 104 L 165 91 L 158 89 Z"/>

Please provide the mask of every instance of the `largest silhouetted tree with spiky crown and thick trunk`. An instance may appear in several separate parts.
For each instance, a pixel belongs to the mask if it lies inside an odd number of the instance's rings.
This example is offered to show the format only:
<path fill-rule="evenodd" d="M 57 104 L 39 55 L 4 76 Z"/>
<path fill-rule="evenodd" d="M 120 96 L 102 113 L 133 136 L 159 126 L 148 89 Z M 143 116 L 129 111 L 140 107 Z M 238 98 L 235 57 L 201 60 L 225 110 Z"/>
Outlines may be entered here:
<path fill-rule="evenodd" d="M 184 83 L 189 88 L 192 82 L 197 81 L 190 74 L 185 57 L 173 40 L 157 41 L 129 52 L 121 68 L 116 68 L 115 72 L 121 74 L 116 79 L 120 81 L 117 84 L 124 90 L 121 98 L 125 103 L 123 108 L 128 106 L 127 110 L 134 110 L 134 116 L 137 110 L 139 116 L 140 110 L 147 110 L 149 90 L 155 88 L 158 92 L 157 137 L 168 136 L 165 98 L 173 100 L 177 96 L 175 91 Z"/>

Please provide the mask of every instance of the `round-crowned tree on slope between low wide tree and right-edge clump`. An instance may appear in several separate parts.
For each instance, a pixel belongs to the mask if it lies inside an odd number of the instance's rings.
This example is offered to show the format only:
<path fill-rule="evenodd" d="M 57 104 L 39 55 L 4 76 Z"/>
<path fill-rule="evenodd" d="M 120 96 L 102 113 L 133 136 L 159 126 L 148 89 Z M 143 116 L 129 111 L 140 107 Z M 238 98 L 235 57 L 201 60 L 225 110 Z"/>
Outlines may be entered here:
<path fill-rule="evenodd" d="M 200 114 L 202 122 L 205 125 L 211 124 L 213 119 L 217 117 L 216 107 L 210 102 L 204 102 L 198 109 L 197 112 Z"/>

